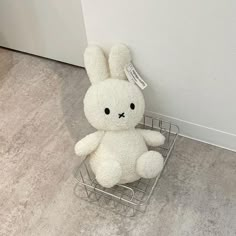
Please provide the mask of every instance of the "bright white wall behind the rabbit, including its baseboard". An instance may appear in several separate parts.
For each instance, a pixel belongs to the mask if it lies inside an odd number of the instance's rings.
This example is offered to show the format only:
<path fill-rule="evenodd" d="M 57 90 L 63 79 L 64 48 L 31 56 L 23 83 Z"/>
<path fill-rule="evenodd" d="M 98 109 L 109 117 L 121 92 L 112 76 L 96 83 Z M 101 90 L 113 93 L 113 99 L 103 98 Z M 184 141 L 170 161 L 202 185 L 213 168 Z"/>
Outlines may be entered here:
<path fill-rule="evenodd" d="M 236 150 L 235 0 L 82 0 L 88 41 L 130 46 L 147 110 Z"/>

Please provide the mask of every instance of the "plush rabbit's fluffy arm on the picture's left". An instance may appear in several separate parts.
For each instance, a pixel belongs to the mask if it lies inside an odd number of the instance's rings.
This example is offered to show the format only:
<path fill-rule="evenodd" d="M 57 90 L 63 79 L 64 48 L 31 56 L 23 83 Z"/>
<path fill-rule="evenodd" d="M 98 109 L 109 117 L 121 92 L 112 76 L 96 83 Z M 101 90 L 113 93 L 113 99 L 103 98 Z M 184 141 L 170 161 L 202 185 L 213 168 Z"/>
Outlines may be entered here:
<path fill-rule="evenodd" d="M 87 156 L 96 150 L 104 135 L 103 131 L 89 134 L 75 144 L 75 153 L 78 156 Z"/>

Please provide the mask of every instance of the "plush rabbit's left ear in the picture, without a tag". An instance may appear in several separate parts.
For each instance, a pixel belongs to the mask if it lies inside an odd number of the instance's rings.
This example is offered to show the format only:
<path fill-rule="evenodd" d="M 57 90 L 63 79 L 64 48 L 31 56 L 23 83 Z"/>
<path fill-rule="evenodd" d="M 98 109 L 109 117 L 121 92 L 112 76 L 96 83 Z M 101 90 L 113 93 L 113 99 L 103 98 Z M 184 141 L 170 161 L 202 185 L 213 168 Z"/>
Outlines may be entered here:
<path fill-rule="evenodd" d="M 93 45 L 85 49 L 84 64 L 92 84 L 109 77 L 107 60 L 100 47 Z"/>

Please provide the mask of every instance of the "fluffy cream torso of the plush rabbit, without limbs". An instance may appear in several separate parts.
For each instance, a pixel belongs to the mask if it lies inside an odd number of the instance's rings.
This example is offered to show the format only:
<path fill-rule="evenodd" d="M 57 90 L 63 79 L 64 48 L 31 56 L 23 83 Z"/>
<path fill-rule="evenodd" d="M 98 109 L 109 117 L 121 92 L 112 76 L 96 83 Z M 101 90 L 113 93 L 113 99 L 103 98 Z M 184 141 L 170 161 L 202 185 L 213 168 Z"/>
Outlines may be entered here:
<path fill-rule="evenodd" d="M 106 131 L 100 145 L 90 155 L 90 165 L 94 173 L 97 173 L 97 168 L 101 163 L 110 160 L 117 161 L 122 169 L 121 178 L 117 183 L 133 182 L 140 178 L 136 172 L 137 159 L 147 151 L 143 137 L 134 128 Z M 100 184 L 102 185 L 102 183 Z"/>

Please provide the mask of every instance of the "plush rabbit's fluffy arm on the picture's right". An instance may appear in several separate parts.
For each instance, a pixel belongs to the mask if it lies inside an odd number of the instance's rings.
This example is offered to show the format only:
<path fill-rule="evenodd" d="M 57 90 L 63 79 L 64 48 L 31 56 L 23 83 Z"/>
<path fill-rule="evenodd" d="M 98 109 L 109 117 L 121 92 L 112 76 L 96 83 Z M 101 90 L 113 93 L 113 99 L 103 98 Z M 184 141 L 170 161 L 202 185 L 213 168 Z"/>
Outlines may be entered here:
<path fill-rule="evenodd" d="M 165 136 L 158 131 L 144 129 L 137 129 L 137 131 L 143 136 L 148 146 L 157 147 L 163 145 L 165 142 Z"/>

